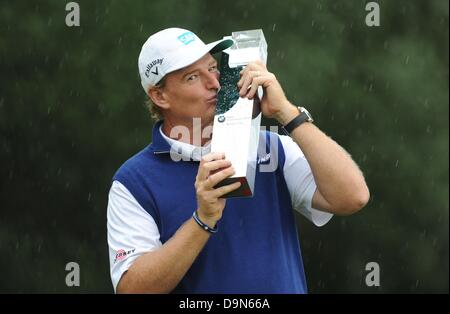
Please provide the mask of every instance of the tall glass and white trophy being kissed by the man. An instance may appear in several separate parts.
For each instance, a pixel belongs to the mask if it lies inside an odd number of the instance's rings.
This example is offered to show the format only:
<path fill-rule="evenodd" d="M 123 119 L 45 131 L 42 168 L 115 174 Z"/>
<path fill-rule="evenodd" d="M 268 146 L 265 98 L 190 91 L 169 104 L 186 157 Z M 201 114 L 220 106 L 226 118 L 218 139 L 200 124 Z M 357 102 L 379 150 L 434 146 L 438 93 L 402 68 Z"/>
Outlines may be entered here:
<path fill-rule="evenodd" d="M 220 182 L 216 187 L 236 181 L 241 187 L 224 197 L 251 197 L 254 195 L 256 158 L 261 125 L 259 99 L 239 96 L 237 86 L 241 70 L 250 62 L 267 63 L 267 43 L 261 29 L 233 32 L 233 46 L 224 50 L 220 62 L 220 86 L 214 117 L 212 152 L 223 152 L 231 161 L 235 175 Z"/>

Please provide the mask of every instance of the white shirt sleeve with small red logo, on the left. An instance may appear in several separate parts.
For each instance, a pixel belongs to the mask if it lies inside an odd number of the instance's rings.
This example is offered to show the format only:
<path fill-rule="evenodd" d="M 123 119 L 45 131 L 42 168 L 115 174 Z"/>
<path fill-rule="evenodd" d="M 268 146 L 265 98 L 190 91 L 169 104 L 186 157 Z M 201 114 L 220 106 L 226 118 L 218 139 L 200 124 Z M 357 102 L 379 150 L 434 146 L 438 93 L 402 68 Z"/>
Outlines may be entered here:
<path fill-rule="evenodd" d="M 119 181 L 114 181 L 109 191 L 107 229 L 111 281 L 116 292 L 131 264 L 162 243 L 153 217 Z"/>

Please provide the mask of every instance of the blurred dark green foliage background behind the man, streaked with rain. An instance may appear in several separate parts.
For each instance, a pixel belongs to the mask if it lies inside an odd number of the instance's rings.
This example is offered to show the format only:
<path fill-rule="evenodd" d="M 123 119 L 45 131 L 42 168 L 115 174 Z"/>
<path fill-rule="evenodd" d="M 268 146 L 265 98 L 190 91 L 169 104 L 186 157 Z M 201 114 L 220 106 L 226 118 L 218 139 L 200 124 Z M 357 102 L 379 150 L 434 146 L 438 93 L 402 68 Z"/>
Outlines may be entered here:
<path fill-rule="evenodd" d="M 356 0 L 86 0 L 79 27 L 67 2 L 0 1 L 0 292 L 112 292 L 108 190 L 153 124 L 137 57 L 178 26 L 205 42 L 262 28 L 289 99 L 366 176 L 361 212 L 322 228 L 296 216 L 310 292 L 448 293 L 447 0 L 376 1 L 380 27 Z"/>

